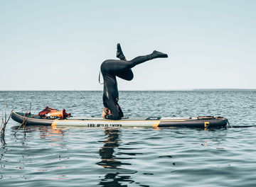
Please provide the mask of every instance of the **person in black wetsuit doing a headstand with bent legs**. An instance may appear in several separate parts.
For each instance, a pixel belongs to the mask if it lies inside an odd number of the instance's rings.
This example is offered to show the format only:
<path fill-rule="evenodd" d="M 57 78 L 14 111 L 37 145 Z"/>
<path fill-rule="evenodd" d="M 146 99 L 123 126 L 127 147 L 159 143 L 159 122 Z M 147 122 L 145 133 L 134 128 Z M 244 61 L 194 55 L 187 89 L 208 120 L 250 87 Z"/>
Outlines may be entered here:
<path fill-rule="evenodd" d="M 104 80 L 103 87 L 103 112 L 102 118 L 119 120 L 124 117 L 122 109 L 117 103 L 119 100 L 119 93 L 117 89 L 117 77 L 131 81 L 134 77 L 132 67 L 137 64 L 142 64 L 148 60 L 155 58 L 166 58 L 168 55 L 154 50 L 150 55 L 144 55 L 134 58 L 133 60 L 126 60 L 122 52 L 120 44 L 117 44 L 117 57 L 120 60 L 105 60 L 100 66 L 102 77 Z"/>

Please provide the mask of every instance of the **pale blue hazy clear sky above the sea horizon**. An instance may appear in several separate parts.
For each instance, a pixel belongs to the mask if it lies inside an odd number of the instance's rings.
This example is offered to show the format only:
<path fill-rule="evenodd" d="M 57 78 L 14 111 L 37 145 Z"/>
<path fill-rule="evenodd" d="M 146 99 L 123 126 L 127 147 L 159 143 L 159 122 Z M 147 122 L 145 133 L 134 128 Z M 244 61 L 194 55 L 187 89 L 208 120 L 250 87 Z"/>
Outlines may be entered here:
<path fill-rule="evenodd" d="M 100 64 L 159 50 L 119 90 L 256 89 L 254 0 L 0 0 L 0 90 L 102 90 Z"/>

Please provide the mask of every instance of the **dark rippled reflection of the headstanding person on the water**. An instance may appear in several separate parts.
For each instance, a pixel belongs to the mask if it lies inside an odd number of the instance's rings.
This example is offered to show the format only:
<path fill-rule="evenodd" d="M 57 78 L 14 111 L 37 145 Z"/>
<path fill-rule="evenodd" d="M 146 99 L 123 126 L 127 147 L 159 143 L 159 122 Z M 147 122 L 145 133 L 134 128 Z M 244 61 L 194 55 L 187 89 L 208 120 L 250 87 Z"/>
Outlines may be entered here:
<path fill-rule="evenodd" d="M 101 186 L 124 186 L 123 183 L 134 183 L 130 174 L 135 174 L 137 171 L 130 171 L 124 169 L 124 165 L 131 165 L 126 162 L 121 162 L 122 157 L 118 157 L 115 152 L 117 152 L 117 147 L 119 147 L 122 140 L 119 136 L 121 135 L 121 130 L 119 129 L 105 129 L 106 139 L 99 141 L 104 143 L 100 148 L 99 154 L 101 161 L 97 162 L 99 166 L 109 169 L 107 174 L 105 174 L 104 179 L 100 179 L 99 185 Z"/>

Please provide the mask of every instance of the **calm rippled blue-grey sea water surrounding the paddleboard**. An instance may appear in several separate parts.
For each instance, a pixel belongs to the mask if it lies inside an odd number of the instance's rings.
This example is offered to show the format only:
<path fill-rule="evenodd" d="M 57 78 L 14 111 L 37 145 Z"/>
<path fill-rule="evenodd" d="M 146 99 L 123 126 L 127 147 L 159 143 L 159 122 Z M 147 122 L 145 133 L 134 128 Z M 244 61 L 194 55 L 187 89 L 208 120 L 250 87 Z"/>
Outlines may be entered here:
<path fill-rule="evenodd" d="M 256 125 L 255 91 L 120 91 L 126 116 L 221 115 Z M 100 115 L 101 91 L 0 91 L 0 108 Z M 0 186 L 255 186 L 256 128 L 18 130 L 0 148 Z"/>

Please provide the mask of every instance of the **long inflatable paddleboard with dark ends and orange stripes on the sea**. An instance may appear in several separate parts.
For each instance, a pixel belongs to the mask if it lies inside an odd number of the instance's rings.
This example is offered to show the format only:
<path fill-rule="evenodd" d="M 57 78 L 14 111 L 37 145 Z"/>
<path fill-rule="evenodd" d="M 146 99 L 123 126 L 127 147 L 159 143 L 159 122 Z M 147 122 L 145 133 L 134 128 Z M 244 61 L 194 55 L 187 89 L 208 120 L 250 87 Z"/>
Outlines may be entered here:
<path fill-rule="evenodd" d="M 228 119 L 202 116 L 196 118 L 132 117 L 121 120 L 107 120 L 97 117 L 69 117 L 65 119 L 42 118 L 31 113 L 11 114 L 11 118 L 26 125 L 81 126 L 86 128 L 225 128 Z"/>

